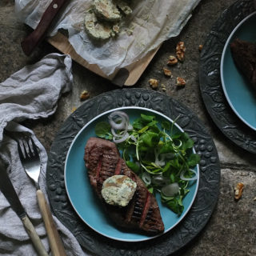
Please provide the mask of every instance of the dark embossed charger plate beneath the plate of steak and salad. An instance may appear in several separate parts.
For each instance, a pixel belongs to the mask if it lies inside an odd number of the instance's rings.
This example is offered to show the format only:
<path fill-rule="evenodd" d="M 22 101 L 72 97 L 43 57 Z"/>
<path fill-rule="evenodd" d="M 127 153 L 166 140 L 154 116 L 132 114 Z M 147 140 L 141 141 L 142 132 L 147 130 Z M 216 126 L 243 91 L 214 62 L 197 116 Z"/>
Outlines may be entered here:
<path fill-rule="evenodd" d="M 178 125 L 194 139 L 194 148 L 201 155 L 198 194 L 189 213 L 173 230 L 151 240 L 150 243 L 118 242 L 96 233 L 78 217 L 66 194 L 64 163 L 75 135 L 90 119 L 120 106 L 146 107 L 172 119 L 179 116 Z M 80 106 L 58 131 L 50 150 L 46 172 L 47 191 L 54 214 L 74 234 L 81 246 L 94 254 L 104 256 L 163 256 L 180 250 L 191 242 L 208 222 L 218 200 L 219 181 L 218 153 L 202 122 L 190 109 L 173 98 L 146 89 L 110 91 Z"/>

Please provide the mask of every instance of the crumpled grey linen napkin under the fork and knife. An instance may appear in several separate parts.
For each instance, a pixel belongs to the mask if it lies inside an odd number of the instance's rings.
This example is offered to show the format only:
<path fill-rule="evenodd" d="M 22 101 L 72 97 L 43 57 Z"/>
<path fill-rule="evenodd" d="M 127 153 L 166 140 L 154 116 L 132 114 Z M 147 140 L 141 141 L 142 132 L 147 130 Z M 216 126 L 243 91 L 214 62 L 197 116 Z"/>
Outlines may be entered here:
<path fill-rule="evenodd" d="M 29 132 L 40 149 L 42 171 L 39 185 L 46 195 L 46 150 L 33 132 L 18 122 L 26 118 L 46 118 L 57 108 L 61 94 L 71 90 L 73 76 L 71 58 L 68 55 L 49 54 L 34 65 L 22 70 L 0 83 L 0 161 L 7 167 L 14 188 L 34 224 L 42 243 L 50 253 L 50 246 L 42 215 L 38 207 L 34 182 L 22 169 L 17 154 L 17 143 L 3 134 L 3 129 Z M 1 171 L 1 170 L 0 170 Z M 47 199 L 48 200 L 48 199 Z M 86 255 L 73 234 L 54 217 L 62 236 L 67 255 Z M 30 256 L 36 255 L 28 234 L 21 220 L 10 208 L 9 202 L 0 191 L 0 254 Z"/>

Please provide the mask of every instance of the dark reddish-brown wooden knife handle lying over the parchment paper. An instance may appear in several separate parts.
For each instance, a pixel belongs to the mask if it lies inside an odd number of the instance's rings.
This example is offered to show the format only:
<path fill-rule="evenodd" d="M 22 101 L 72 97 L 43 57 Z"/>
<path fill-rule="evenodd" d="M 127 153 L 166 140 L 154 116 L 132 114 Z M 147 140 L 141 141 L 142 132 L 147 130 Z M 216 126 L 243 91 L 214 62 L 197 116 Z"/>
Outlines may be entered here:
<path fill-rule="evenodd" d="M 68 0 L 53 0 L 50 2 L 50 5 L 42 14 L 42 18 L 36 29 L 22 41 L 22 50 L 27 56 L 32 53 L 34 48 L 38 46 L 39 42 L 46 36 L 47 29 L 58 14 L 58 11 L 61 10 L 64 3 L 67 1 Z"/>

